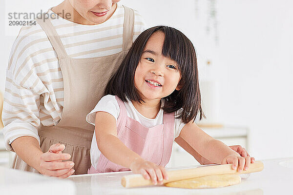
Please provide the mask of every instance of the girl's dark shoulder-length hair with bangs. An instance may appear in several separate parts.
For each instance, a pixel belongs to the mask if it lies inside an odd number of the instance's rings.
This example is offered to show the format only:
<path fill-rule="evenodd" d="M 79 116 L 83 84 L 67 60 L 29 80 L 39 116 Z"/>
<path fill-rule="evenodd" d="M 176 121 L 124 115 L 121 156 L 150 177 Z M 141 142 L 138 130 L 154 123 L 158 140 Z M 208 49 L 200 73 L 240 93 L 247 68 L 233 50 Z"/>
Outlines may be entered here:
<path fill-rule="evenodd" d="M 179 30 L 168 26 L 155 26 L 142 32 L 134 41 L 125 59 L 117 71 L 112 75 L 105 88 L 105 95 L 116 95 L 126 101 L 144 102 L 134 85 L 134 74 L 141 59 L 147 40 L 157 31 L 165 34 L 162 55 L 177 62 L 181 73 L 180 90 L 175 90 L 165 97 L 162 107 L 164 112 L 171 113 L 183 108 L 176 118 L 188 123 L 197 114 L 200 119 L 205 117 L 201 108 L 201 97 L 198 82 L 197 59 L 191 41 Z"/>

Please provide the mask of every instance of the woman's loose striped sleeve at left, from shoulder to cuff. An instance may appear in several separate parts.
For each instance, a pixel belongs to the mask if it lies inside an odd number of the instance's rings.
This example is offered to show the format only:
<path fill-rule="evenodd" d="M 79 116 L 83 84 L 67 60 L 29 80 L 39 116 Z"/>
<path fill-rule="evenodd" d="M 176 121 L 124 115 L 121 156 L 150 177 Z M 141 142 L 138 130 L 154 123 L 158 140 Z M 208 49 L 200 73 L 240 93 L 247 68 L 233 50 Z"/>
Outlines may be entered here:
<path fill-rule="evenodd" d="M 24 36 L 26 33 L 21 30 L 15 40 L 6 70 L 2 121 L 4 144 L 9 151 L 13 151 L 11 143 L 18 137 L 35 137 L 40 143 L 40 95 L 46 88 L 33 68 L 32 54 L 40 49 L 30 44 L 33 40 Z"/>

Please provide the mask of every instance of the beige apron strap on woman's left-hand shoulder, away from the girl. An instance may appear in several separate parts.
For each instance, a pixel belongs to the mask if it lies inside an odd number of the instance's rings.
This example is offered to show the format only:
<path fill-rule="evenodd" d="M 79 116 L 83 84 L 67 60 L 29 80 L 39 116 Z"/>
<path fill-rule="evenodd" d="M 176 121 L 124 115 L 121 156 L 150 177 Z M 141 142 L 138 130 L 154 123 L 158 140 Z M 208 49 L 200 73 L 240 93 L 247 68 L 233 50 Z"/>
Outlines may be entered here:
<path fill-rule="evenodd" d="M 43 19 L 44 15 L 42 15 L 42 18 L 39 19 L 36 18 L 36 21 L 40 26 L 42 27 L 43 31 L 46 33 L 48 39 L 50 40 L 53 49 L 55 50 L 58 60 L 67 58 L 67 53 L 65 51 L 64 45 L 57 34 L 53 24 L 50 21 L 50 17 L 48 19 Z"/>

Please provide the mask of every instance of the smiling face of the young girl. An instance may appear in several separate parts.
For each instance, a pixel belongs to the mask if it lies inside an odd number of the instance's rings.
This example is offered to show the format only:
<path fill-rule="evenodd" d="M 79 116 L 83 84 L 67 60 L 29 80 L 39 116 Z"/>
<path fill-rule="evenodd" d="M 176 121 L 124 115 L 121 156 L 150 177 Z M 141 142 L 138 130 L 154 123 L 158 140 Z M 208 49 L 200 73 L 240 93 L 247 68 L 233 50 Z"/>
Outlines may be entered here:
<path fill-rule="evenodd" d="M 144 100 L 161 100 L 175 89 L 181 78 L 176 61 L 162 56 L 163 32 L 155 32 L 146 47 L 134 74 L 134 84 Z"/>

